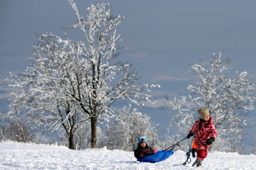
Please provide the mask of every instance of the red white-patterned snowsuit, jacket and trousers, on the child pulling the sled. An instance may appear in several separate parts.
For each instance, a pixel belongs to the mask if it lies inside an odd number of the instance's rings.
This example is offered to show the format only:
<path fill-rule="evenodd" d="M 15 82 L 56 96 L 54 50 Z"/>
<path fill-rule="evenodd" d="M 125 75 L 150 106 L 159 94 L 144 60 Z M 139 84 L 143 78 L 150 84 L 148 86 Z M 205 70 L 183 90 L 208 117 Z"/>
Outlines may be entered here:
<path fill-rule="evenodd" d="M 209 150 L 210 147 L 210 145 L 207 145 L 205 141 L 210 137 L 214 137 L 215 139 L 217 137 L 217 130 L 215 129 L 215 126 L 213 124 L 213 118 L 211 116 L 209 121 L 203 122 L 200 120 L 195 122 L 189 133 L 195 134 L 195 144 L 197 146 L 197 159 L 203 161 L 204 158 L 206 158 L 207 151 Z M 198 129 L 200 123 L 200 129 Z"/>

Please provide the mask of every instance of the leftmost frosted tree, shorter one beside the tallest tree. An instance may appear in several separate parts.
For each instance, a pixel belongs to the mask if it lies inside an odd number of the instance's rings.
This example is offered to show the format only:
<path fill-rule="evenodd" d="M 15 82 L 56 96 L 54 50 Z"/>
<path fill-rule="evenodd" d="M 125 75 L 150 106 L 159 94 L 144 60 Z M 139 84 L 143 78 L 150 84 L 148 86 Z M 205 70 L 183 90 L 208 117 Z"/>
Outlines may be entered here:
<path fill-rule="evenodd" d="M 43 132 L 58 132 L 59 128 L 63 128 L 69 141 L 68 147 L 74 149 L 74 133 L 79 126 L 88 122 L 88 116 L 82 115 L 76 102 L 67 97 L 67 90 L 72 87 L 68 86 L 70 79 L 65 77 L 65 70 L 61 68 L 65 68 L 69 61 L 60 62 L 60 58 L 52 57 L 49 51 L 40 48 L 41 43 L 46 43 L 41 38 L 37 46 L 34 46 L 38 57 L 30 58 L 32 64 L 28 71 L 11 74 L 7 78 L 13 82 L 10 85 L 17 88 L 10 99 L 9 115 L 26 115 L 30 120 L 28 122 L 40 127 Z M 38 52 L 40 49 L 42 55 Z"/>

